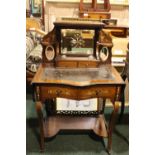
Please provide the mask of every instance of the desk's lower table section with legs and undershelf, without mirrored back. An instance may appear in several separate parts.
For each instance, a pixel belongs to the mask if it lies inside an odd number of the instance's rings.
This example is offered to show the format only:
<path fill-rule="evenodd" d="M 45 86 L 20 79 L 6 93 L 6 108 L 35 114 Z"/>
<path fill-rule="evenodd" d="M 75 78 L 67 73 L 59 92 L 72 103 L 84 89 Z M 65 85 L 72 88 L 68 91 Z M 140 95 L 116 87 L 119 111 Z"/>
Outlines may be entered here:
<path fill-rule="evenodd" d="M 36 111 L 40 122 L 40 149 L 44 150 L 44 138 L 57 134 L 61 129 L 93 130 L 98 136 L 108 138 L 107 150 L 110 152 L 112 131 L 119 109 L 119 97 L 124 82 L 111 65 L 98 68 L 55 68 L 41 64 L 34 79 Z M 46 99 L 57 97 L 84 100 L 109 98 L 113 104 L 111 119 L 106 124 L 102 113 L 94 116 L 52 115 L 43 118 L 43 104 Z"/>

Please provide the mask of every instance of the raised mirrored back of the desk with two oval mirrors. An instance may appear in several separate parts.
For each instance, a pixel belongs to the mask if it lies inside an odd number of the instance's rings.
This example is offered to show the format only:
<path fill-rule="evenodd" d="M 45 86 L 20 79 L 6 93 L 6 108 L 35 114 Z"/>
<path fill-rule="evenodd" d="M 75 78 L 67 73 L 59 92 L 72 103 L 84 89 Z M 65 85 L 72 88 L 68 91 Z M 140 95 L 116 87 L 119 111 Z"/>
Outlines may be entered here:
<path fill-rule="evenodd" d="M 111 63 L 112 43 L 103 39 L 105 24 L 100 20 L 59 18 L 44 36 L 43 63 L 55 67 L 96 68 Z"/>

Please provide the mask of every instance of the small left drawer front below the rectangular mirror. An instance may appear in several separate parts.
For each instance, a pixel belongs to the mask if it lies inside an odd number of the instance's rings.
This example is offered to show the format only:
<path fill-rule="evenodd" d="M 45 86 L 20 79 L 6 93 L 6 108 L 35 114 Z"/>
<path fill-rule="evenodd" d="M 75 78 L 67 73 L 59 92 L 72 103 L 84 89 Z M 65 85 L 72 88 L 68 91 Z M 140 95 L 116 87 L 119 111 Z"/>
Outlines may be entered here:
<path fill-rule="evenodd" d="M 58 61 L 56 63 L 57 67 L 67 67 L 67 68 L 76 68 L 77 67 L 77 62 L 75 61 Z"/>

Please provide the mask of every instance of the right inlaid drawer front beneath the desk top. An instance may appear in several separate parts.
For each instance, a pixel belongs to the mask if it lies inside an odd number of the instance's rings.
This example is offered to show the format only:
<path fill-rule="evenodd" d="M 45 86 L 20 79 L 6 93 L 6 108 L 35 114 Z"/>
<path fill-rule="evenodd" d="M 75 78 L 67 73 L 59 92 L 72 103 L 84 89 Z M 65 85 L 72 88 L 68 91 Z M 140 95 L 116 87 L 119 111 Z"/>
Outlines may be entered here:
<path fill-rule="evenodd" d="M 78 92 L 79 99 L 89 98 L 110 98 L 114 99 L 116 95 L 116 87 L 89 87 L 81 89 Z"/>

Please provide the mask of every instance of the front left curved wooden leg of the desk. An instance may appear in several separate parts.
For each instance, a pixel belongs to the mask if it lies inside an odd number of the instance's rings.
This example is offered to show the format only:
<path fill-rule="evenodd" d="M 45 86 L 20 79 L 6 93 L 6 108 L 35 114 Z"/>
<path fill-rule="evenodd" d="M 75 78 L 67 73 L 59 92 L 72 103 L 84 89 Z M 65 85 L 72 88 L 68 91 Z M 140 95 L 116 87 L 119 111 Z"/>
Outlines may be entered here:
<path fill-rule="evenodd" d="M 44 151 L 44 129 L 43 129 L 43 113 L 42 113 L 42 103 L 36 102 L 36 111 L 39 120 L 39 128 L 40 128 L 40 151 Z"/>

